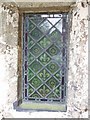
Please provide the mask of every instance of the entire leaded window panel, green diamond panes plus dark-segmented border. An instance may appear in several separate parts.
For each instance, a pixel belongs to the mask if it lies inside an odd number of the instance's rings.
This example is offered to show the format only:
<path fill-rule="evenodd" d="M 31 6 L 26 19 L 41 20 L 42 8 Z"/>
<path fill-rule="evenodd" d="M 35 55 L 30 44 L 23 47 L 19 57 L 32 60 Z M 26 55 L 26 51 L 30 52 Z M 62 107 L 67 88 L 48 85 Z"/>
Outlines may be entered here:
<path fill-rule="evenodd" d="M 65 102 L 68 15 L 25 14 L 23 99 Z"/>

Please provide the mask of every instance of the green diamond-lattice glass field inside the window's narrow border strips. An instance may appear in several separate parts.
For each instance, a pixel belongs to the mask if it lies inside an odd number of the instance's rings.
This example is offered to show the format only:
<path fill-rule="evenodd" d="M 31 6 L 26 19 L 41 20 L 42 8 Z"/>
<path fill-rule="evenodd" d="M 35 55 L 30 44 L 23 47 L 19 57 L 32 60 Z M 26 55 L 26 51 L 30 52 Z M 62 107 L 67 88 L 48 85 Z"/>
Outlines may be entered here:
<path fill-rule="evenodd" d="M 61 98 L 60 66 L 66 53 L 59 20 L 33 15 L 28 21 L 28 95 L 36 100 Z"/>

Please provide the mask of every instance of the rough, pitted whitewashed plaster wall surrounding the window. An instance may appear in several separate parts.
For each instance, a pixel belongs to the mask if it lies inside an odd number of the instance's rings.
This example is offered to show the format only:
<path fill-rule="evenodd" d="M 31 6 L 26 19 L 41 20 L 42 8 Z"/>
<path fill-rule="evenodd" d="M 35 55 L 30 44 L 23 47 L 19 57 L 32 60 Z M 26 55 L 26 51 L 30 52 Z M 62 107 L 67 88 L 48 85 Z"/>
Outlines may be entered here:
<path fill-rule="evenodd" d="M 70 17 L 67 112 L 17 112 L 18 11 L 0 6 L 0 119 L 88 118 L 88 6 L 77 2 Z"/>

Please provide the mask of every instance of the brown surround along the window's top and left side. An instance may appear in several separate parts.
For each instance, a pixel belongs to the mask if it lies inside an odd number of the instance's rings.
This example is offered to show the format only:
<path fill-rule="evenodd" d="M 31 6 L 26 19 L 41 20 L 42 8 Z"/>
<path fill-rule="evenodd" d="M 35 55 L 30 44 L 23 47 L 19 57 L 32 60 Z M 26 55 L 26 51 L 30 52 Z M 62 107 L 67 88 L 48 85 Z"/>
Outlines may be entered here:
<path fill-rule="evenodd" d="M 42 7 L 44 6 L 44 4 L 46 5 L 45 7 Z M 70 3 L 69 3 L 70 4 Z M 20 106 L 20 104 L 22 105 L 23 102 L 22 102 L 22 59 L 21 59 L 21 56 L 22 56 L 22 22 L 23 22 L 23 13 L 62 13 L 62 12 L 67 12 L 69 13 L 70 11 L 70 6 L 68 6 L 68 4 L 66 4 L 66 6 L 64 6 L 64 3 L 60 5 L 57 5 L 56 3 L 56 6 L 53 6 L 53 4 L 51 6 L 49 6 L 49 3 L 43 3 L 43 5 L 41 7 L 35 7 L 35 4 L 33 4 L 34 7 L 25 7 L 27 6 L 27 3 L 24 7 L 23 4 L 20 4 L 21 5 L 21 8 L 19 8 L 19 33 L 18 33 L 18 37 L 19 37 L 19 40 L 18 40 L 18 46 L 19 46 L 19 49 L 18 49 L 18 95 L 17 95 L 17 106 Z M 39 5 L 39 4 L 38 4 Z M 40 6 L 40 5 L 39 5 Z M 47 7 L 48 6 L 48 7 Z M 70 16 L 70 15 L 69 15 Z M 69 31 L 68 31 L 69 32 Z M 67 90 L 68 91 L 68 90 Z M 63 105 L 62 107 L 64 107 L 63 110 L 61 111 L 66 111 L 66 106 L 67 105 Z M 17 110 L 22 110 L 22 108 L 20 107 L 16 107 Z"/>

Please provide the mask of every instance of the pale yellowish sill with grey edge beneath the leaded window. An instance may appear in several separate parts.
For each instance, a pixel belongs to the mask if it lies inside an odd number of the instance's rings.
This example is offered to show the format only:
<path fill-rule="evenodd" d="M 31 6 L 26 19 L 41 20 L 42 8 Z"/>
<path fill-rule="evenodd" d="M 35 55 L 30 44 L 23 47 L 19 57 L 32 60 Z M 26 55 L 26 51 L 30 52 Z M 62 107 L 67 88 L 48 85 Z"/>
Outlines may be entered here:
<path fill-rule="evenodd" d="M 45 102 L 28 102 L 23 101 L 20 105 L 14 104 L 16 111 L 51 111 L 51 112 L 66 112 L 66 104 L 61 103 L 45 103 Z"/>

